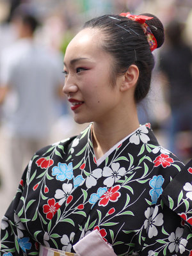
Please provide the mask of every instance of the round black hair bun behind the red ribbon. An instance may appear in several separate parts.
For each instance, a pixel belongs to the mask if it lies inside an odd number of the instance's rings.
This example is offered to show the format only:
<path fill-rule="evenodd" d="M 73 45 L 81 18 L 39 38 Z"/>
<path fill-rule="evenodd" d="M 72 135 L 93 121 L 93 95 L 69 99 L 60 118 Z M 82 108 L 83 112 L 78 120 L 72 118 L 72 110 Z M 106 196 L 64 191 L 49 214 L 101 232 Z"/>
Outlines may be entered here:
<path fill-rule="evenodd" d="M 150 30 L 152 31 L 153 35 L 157 40 L 157 48 L 161 47 L 164 42 L 164 28 L 161 20 L 159 20 L 155 15 L 150 13 L 142 13 L 140 15 L 145 15 L 149 17 L 154 17 L 154 19 L 146 20 L 145 23 L 149 26 Z"/>

